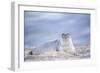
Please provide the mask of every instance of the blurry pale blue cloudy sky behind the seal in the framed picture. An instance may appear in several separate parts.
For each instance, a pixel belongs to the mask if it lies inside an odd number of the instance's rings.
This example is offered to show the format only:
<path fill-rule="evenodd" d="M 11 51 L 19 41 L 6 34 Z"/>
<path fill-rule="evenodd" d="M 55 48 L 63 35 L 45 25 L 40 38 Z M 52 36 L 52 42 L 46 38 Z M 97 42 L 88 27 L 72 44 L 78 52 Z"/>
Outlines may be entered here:
<path fill-rule="evenodd" d="M 76 45 L 90 42 L 90 14 L 24 11 L 24 47 L 33 48 L 70 33 Z"/>

